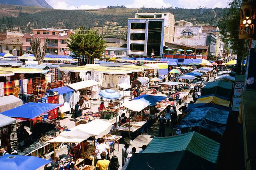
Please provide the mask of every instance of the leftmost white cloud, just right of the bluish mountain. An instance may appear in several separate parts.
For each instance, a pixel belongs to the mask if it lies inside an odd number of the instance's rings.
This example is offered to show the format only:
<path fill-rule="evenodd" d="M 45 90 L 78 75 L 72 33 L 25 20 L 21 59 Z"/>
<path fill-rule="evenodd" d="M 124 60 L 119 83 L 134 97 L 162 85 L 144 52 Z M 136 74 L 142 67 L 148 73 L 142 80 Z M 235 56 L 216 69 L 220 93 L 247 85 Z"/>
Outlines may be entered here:
<path fill-rule="evenodd" d="M 90 6 L 90 5 L 81 5 L 81 6 L 71 6 L 72 3 L 70 0 L 47 0 L 47 2 L 54 9 L 62 9 L 62 10 L 89 10 L 89 9 L 98 9 L 98 8 L 106 8 L 106 6 Z"/>

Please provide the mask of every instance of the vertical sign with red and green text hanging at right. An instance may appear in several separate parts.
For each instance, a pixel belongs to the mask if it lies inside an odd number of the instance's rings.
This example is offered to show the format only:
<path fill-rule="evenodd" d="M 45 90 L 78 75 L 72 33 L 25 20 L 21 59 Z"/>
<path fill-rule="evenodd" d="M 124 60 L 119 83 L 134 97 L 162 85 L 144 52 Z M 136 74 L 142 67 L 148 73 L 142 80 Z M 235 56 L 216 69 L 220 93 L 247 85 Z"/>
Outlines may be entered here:
<path fill-rule="evenodd" d="M 239 111 L 241 103 L 241 92 L 244 90 L 244 82 L 235 82 L 234 96 L 233 96 L 233 111 Z"/>

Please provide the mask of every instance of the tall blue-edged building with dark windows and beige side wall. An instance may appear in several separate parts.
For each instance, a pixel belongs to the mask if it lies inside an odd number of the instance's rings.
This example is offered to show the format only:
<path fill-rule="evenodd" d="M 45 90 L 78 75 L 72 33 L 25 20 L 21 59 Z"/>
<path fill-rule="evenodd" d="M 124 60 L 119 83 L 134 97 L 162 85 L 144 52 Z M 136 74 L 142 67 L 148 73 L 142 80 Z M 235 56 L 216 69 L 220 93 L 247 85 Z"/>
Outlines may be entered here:
<path fill-rule="evenodd" d="M 174 15 L 164 13 L 136 13 L 128 19 L 127 55 L 162 56 L 165 42 L 174 38 Z"/>

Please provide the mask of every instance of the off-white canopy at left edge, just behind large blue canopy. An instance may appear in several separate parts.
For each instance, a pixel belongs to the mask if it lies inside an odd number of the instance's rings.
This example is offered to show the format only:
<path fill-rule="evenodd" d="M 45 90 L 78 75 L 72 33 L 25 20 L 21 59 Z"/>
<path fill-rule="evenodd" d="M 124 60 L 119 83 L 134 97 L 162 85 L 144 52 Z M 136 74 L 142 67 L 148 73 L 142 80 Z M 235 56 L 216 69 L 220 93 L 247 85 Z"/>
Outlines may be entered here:
<path fill-rule="evenodd" d="M 7 111 L 21 105 L 23 105 L 22 100 L 13 95 L 0 97 L 0 112 Z"/>

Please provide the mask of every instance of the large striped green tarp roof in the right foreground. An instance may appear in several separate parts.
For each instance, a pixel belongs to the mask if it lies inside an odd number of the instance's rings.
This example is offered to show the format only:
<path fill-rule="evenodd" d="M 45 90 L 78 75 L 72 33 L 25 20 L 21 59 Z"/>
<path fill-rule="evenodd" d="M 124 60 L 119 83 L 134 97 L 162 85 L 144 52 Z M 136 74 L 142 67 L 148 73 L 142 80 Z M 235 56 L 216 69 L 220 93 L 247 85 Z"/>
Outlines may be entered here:
<path fill-rule="evenodd" d="M 187 150 L 210 162 L 216 163 L 220 144 L 197 132 L 171 137 L 155 137 L 143 153 L 162 153 Z"/>

